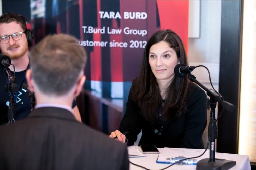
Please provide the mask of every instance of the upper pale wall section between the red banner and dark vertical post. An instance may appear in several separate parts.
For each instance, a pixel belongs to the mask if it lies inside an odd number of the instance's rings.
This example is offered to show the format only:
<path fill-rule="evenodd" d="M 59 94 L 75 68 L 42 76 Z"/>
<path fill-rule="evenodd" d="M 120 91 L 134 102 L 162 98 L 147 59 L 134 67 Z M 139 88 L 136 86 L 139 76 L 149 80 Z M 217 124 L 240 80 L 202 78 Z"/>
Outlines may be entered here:
<path fill-rule="evenodd" d="M 200 1 L 200 37 L 189 38 L 189 61 L 219 63 L 221 1 Z"/>

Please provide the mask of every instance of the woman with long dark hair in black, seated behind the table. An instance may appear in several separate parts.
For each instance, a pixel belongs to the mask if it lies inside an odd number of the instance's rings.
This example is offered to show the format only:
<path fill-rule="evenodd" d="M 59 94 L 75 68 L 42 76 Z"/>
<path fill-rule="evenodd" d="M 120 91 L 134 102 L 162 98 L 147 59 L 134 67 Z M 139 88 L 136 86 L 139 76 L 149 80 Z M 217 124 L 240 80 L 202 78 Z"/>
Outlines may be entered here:
<path fill-rule="evenodd" d="M 133 81 L 119 130 L 110 137 L 133 145 L 158 148 L 203 148 L 205 92 L 186 76 L 174 75 L 177 64 L 188 65 L 184 45 L 173 31 L 157 31 L 148 40 L 139 76 Z M 129 132 L 126 136 L 122 133 Z"/>

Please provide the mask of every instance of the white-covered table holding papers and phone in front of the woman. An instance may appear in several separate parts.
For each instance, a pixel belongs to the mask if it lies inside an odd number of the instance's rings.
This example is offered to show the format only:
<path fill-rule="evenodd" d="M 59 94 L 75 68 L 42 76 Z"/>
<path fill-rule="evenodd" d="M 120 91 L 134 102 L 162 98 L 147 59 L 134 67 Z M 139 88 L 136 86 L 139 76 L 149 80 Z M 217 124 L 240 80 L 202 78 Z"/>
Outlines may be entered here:
<path fill-rule="evenodd" d="M 137 147 L 139 150 L 140 147 Z M 158 150 L 160 151 L 161 148 L 158 148 Z M 182 150 L 182 148 L 181 148 Z M 194 151 L 195 149 L 191 149 L 191 151 Z M 203 149 L 197 149 L 197 150 L 201 150 L 203 153 Z M 140 157 L 140 158 L 129 158 L 129 160 L 132 163 L 141 165 L 143 167 L 146 167 L 148 169 L 151 170 L 158 170 L 158 169 L 162 169 L 165 168 L 167 166 L 169 166 L 170 164 L 159 164 L 156 163 L 158 154 L 145 154 L 147 157 Z M 209 158 L 209 150 L 207 150 L 205 152 L 205 154 L 199 158 L 196 158 L 198 161 L 204 158 Z M 232 167 L 231 170 L 251 170 L 251 166 L 250 166 L 250 160 L 248 155 L 237 155 L 237 154 L 228 154 L 228 153 L 216 153 L 215 154 L 215 158 L 220 158 L 220 159 L 227 159 L 227 160 L 234 160 L 236 161 L 236 166 Z M 130 170 L 140 170 L 143 168 L 140 168 L 138 166 L 132 165 L 130 163 Z M 189 169 L 189 170 L 196 170 L 196 165 L 173 165 L 169 168 L 167 168 L 168 170 L 170 169 L 179 169 L 179 170 L 184 170 L 184 169 Z"/>

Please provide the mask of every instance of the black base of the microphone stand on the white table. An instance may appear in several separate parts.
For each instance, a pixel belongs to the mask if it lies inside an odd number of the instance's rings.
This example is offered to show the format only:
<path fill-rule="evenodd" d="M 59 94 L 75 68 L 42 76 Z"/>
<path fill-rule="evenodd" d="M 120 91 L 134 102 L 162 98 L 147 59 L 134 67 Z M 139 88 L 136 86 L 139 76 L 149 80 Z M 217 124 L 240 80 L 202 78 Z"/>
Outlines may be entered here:
<path fill-rule="evenodd" d="M 199 160 L 196 170 L 226 170 L 236 165 L 236 161 L 215 159 L 215 162 L 210 162 L 209 158 Z"/>

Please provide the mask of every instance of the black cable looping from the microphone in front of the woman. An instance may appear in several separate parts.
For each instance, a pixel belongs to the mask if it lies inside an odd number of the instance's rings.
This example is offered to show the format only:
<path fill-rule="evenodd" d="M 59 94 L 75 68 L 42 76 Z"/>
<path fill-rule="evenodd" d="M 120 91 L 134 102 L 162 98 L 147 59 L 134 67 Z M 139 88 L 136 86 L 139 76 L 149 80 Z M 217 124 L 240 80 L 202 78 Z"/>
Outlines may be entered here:
<path fill-rule="evenodd" d="M 213 85 L 212 85 L 211 75 L 210 75 L 210 71 L 208 70 L 208 68 L 205 67 L 205 66 L 203 66 L 203 65 L 198 65 L 198 66 L 196 66 L 195 68 L 197 68 L 197 67 L 204 67 L 204 68 L 207 69 L 208 75 L 209 75 L 209 80 L 210 80 L 210 83 L 211 83 L 211 86 L 212 86 L 213 90 L 214 90 L 220 97 L 222 97 L 221 94 L 219 94 L 219 92 L 217 92 L 217 91 L 214 89 Z M 222 116 L 223 111 L 224 111 L 224 108 L 222 107 L 222 110 L 221 110 L 220 114 L 218 115 L 218 118 L 216 119 L 216 121 L 215 121 L 215 123 L 214 123 L 214 125 L 213 125 L 213 128 L 212 128 L 212 130 L 211 130 L 211 132 L 210 132 L 210 135 L 208 135 L 209 137 L 208 137 L 208 140 L 207 140 L 207 145 L 206 145 L 206 147 L 205 147 L 205 150 L 204 150 L 204 152 L 203 152 L 201 155 L 196 156 L 196 157 L 190 157 L 190 158 L 181 159 L 181 160 L 179 160 L 179 161 L 177 161 L 177 162 L 175 162 L 175 163 L 173 163 L 173 164 L 171 164 L 171 165 L 169 165 L 169 166 L 167 166 L 167 167 L 165 167 L 165 168 L 159 169 L 159 170 L 167 169 L 167 168 L 169 168 L 169 167 L 171 167 L 171 166 L 173 166 L 173 165 L 175 165 L 175 164 L 178 164 L 178 163 L 180 163 L 180 162 L 183 162 L 184 160 L 187 160 L 187 159 L 194 159 L 194 158 L 198 158 L 198 157 L 200 157 L 200 156 L 203 156 L 204 153 L 205 153 L 205 152 L 207 151 L 207 149 L 208 149 L 209 142 L 210 142 L 210 136 L 212 135 L 212 132 L 213 132 L 213 130 L 214 130 L 216 124 L 217 124 L 217 121 L 218 121 L 219 118 Z M 141 166 L 141 165 L 134 164 L 134 163 L 132 163 L 130 160 L 129 160 L 129 162 L 130 162 L 131 164 L 135 165 L 135 166 L 144 168 L 144 169 L 146 169 L 146 170 L 150 170 L 150 169 L 147 169 L 146 167 L 143 167 L 143 166 Z"/>

